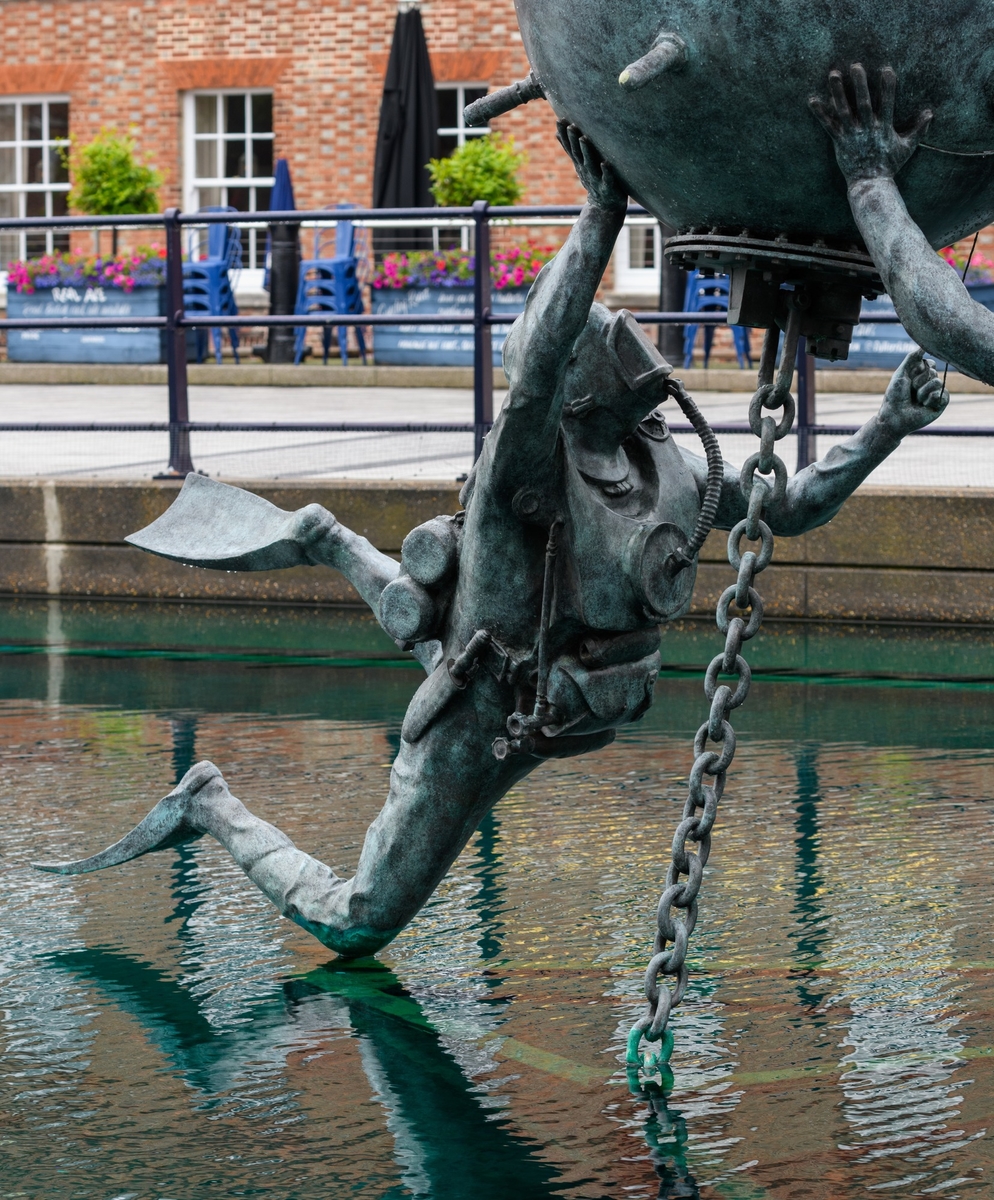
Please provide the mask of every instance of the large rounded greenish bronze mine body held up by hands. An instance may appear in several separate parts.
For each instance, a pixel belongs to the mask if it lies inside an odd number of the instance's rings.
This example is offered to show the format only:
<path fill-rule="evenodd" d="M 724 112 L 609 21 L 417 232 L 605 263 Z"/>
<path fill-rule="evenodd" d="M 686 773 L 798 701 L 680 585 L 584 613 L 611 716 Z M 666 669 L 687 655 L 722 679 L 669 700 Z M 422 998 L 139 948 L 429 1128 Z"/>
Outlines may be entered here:
<path fill-rule="evenodd" d="M 854 241 L 845 181 L 808 98 L 862 62 L 900 79 L 898 128 L 934 119 L 900 170 L 945 246 L 994 220 L 994 0 L 516 0 L 561 119 L 673 229 Z M 534 90 L 522 89 L 528 98 Z M 987 151 L 987 154 L 986 154 Z"/>

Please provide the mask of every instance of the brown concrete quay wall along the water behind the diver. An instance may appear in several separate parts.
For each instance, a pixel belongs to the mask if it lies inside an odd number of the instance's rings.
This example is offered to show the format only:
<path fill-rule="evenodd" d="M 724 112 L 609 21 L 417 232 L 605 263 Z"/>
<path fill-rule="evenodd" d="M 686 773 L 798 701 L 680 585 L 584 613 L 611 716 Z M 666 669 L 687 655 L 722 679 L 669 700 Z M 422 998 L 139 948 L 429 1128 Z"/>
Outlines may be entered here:
<path fill-rule="evenodd" d="M 414 526 L 455 512 L 459 485 L 316 481 L 242 486 L 282 509 L 317 502 L 395 557 Z M 0 594 L 360 604 L 322 568 L 228 574 L 142 553 L 124 536 L 168 508 L 173 481 L 0 480 Z M 733 582 L 726 536 L 701 554 L 691 613 Z M 994 490 L 863 487 L 834 521 L 778 539 L 761 577 L 770 617 L 994 624 Z"/>

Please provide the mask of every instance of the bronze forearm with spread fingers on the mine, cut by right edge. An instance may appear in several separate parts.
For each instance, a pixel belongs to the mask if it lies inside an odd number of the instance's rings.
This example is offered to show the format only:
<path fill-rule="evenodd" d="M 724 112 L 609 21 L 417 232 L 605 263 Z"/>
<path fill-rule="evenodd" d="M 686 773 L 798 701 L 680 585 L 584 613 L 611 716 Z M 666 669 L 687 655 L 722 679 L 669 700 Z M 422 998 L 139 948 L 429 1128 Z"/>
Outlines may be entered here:
<path fill-rule="evenodd" d="M 810 100 L 836 144 L 849 185 L 849 204 L 904 328 L 929 354 L 966 374 L 994 383 L 994 313 L 970 298 L 963 281 L 911 220 L 894 176 L 915 152 L 932 121 L 926 109 L 906 133 L 894 128 L 897 77 L 880 72 L 880 98 L 870 97 L 863 67 L 850 77 L 850 104 L 839 71 L 828 76 L 831 98 Z"/>

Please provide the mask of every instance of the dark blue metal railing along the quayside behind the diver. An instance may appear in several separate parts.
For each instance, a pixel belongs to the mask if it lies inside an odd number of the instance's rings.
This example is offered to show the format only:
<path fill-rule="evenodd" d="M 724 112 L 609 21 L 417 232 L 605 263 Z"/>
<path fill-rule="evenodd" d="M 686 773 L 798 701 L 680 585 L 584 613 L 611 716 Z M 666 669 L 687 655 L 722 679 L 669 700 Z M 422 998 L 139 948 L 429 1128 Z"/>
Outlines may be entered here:
<path fill-rule="evenodd" d="M 646 216 L 646 210 L 633 205 L 629 216 Z M 493 424 L 493 368 L 491 331 L 495 325 L 509 325 L 508 317 L 495 317 L 491 311 L 490 244 L 493 223 L 522 223 L 539 221 L 550 223 L 562 220 L 571 223 L 581 212 L 580 205 L 493 206 L 477 202 L 472 208 L 438 209 L 348 209 L 347 220 L 389 227 L 391 221 L 405 227 L 423 224 L 431 227 L 439 221 L 445 224 L 469 223 L 474 236 L 475 268 L 473 274 L 473 421 L 455 424 L 418 422 L 203 422 L 190 420 L 187 385 L 186 330 L 224 328 L 321 328 L 327 325 L 377 326 L 377 325 L 451 325 L 471 324 L 451 313 L 307 313 L 307 314 L 252 314 L 187 316 L 182 301 L 182 229 L 206 224 L 335 224 L 342 218 L 341 210 L 289 212 L 180 212 L 167 209 L 158 215 L 108 216 L 108 217 L 19 217 L 0 218 L 0 230 L 19 229 L 146 229 L 164 228 L 166 232 L 166 314 L 160 317 L 49 317 L 0 319 L 0 329 L 118 329 L 122 320 L 130 329 L 161 329 L 166 341 L 166 366 L 168 379 L 168 420 L 164 422 L 0 422 L 0 432 L 163 432 L 169 434 L 168 474 L 185 476 L 193 470 L 190 451 L 191 433 L 472 433 L 473 458 L 479 457 L 483 439 Z M 484 269 L 484 266 L 486 269 Z M 646 325 L 724 325 L 723 312 L 635 312 L 634 317 Z M 899 324 L 897 316 L 866 313 L 863 320 L 873 324 Z M 846 436 L 858 426 L 818 425 L 813 360 L 804 355 L 803 342 L 798 346 L 798 403 L 797 403 L 797 467 L 807 466 L 815 458 L 818 434 Z M 675 433 L 689 433 L 689 425 L 672 425 Z M 747 424 L 715 424 L 715 433 L 748 433 Z M 994 428 L 944 426 L 929 428 L 930 436 L 976 437 L 994 436 Z"/>

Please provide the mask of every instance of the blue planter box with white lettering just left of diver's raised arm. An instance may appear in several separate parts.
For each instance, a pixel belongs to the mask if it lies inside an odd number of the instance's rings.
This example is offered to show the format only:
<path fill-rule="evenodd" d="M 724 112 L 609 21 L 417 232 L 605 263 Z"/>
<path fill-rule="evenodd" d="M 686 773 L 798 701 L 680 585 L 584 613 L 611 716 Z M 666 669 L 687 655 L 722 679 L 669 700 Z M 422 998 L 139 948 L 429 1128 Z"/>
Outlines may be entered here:
<path fill-rule="evenodd" d="M 495 317 L 510 320 L 525 310 L 528 288 L 504 288 L 491 293 Z M 443 313 L 461 320 L 473 319 L 472 288 L 383 288 L 373 289 L 372 311 L 383 313 Z M 493 366 L 501 365 L 501 352 L 509 326 L 496 325 Z M 451 325 L 377 325 L 373 330 L 373 362 L 387 366 L 473 365 L 473 326 Z"/>

